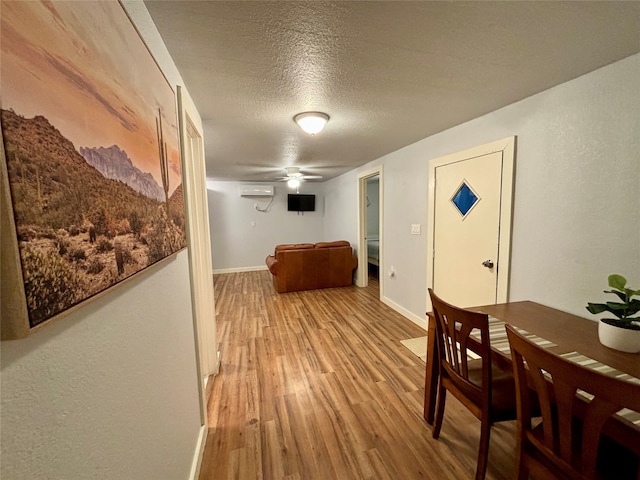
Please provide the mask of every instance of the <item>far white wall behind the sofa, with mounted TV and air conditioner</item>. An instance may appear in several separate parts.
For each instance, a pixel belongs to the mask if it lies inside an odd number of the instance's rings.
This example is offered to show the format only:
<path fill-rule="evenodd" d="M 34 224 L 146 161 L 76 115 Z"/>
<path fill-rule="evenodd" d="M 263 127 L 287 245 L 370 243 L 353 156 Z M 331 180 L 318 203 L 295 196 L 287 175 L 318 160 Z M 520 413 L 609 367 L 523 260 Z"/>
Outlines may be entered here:
<path fill-rule="evenodd" d="M 315 243 L 324 241 L 324 193 L 322 184 L 303 183 L 300 193 L 316 195 L 315 212 L 287 211 L 287 194 L 295 193 L 284 182 L 274 185 L 275 195 L 268 212 L 270 197 L 240 197 L 240 182 L 207 182 L 213 269 L 223 271 L 266 268 L 265 258 L 281 243 Z"/>

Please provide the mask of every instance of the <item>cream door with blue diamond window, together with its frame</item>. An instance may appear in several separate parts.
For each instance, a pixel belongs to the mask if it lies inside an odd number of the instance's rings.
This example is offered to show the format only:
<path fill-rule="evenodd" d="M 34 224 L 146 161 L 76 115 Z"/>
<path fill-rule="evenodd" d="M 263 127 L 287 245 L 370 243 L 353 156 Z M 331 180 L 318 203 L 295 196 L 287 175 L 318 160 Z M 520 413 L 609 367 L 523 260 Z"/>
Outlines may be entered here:
<path fill-rule="evenodd" d="M 503 144 L 485 145 L 433 166 L 427 283 L 454 305 L 507 300 L 513 141 L 509 145 L 507 152 Z"/>

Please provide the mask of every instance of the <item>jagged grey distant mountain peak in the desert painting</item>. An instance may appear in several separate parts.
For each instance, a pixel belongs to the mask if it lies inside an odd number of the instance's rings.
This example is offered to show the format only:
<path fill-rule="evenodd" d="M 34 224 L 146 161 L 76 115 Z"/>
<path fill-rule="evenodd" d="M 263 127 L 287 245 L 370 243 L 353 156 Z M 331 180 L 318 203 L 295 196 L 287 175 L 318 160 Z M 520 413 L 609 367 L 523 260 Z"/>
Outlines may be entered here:
<path fill-rule="evenodd" d="M 136 167 L 126 152 L 117 145 L 110 147 L 80 147 L 80 155 L 105 177 L 126 183 L 136 192 L 155 200 L 164 200 L 164 191 L 153 176 Z"/>

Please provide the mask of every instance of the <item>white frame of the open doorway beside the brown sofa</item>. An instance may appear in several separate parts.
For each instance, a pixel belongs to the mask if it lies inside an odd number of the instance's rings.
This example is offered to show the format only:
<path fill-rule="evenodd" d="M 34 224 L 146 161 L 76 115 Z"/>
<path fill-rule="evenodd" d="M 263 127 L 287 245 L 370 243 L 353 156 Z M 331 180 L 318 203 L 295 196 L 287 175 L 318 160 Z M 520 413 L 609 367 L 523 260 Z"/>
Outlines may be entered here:
<path fill-rule="evenodd" d="M 367 252 L 367 180 L 371 177 L 378 176 L 380 183 L 378 185 L 380 192 L 378 222 L 380 239 L 380 259 L 378 262 L 378 278 L 380 281 L 380 298 L 384 298 L 384 181 L 382 165 L 364 170 L 358 173 L 358 269 L 356 270 L 356 285 L 358 287 L 366 287 L 369 284 L 369 265 L 366 256 Z"/>

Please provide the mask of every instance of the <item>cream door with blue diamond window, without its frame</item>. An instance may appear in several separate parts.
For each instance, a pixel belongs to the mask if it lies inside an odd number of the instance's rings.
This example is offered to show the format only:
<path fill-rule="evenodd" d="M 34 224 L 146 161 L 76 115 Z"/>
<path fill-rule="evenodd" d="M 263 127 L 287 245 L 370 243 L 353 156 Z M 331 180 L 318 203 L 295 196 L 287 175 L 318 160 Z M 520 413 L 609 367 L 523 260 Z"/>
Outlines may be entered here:
<path fill-rule="evenodd" d="M 497 301 L 502 154 L 435 169 L 433 289 L 467 307 Z"/>

